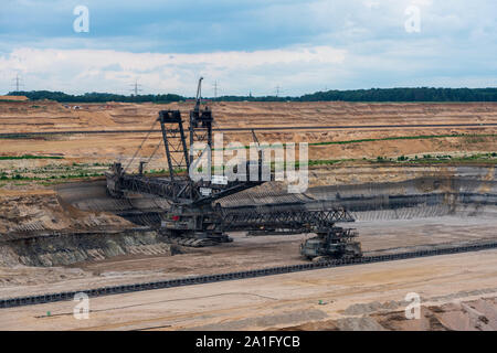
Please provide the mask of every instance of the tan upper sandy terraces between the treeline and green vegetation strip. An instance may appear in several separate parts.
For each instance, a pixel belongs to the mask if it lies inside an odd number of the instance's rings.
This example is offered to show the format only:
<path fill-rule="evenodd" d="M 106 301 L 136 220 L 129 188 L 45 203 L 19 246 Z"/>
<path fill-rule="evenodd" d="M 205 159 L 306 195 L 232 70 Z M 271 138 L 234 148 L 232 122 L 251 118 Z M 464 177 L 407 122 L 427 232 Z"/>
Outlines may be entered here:
<path fill-rule="evenodd" d="M 57 130 L 148 129 L 161 109 L 180 109 L 188 117 L 191 104 L 108 104 L 74 105 L 54 101 L 0 101 L 2 132 Z M 484 124 L 497 121 L 497 105 L 478 104 L 361 104 L 361 103 L 215 103 L 212 107 L 215 127 L 285 127 L 285 126 L 357 126 L 416 124 Z M 156 126 L 157 128 L 157 126 Z M 296 130 L 257 132 L 261 142 L 329 142 L 357 139 L 452 135 L 495 133 L 494 127 L 453 128 L 374 128 L 342 130 Z M 141 143 L 142 135 L 54 136 L 39 139 L 12 139 L 2 143 L 0 154 L 63 156 L 66 163 L 112 162 L 129 159 Z M 251 133 L 225 133 L 225 141 L 248 143 Z M 139 156 L 148 157 L 160 142 L 152 133 Z M 423 153 L 456 153 L 494 151 L 496 137 L 436 138 L 422 140 L 364 141 L 352 145 L 311 146 L 311 159 L 361 159 L 414 156 Z M 163 151 L 149 165 L 166 165 Z M 40 162 L 41 163 L 41 162 Z M 61 163 L 64 163 L 61 161 Z"/>

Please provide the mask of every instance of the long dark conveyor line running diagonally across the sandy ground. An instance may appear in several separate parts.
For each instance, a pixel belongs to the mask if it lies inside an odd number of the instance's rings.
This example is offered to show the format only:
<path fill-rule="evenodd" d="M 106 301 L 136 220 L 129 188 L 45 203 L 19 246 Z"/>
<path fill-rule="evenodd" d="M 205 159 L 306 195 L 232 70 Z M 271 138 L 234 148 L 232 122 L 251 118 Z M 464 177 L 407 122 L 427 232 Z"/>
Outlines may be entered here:
<path fill-rule="evenodd" d="M 364 256 L 361 258 L 330 260 L 327 263 L 311 263 L 311 264 L 302 264 L 302 265 L 293 265 L 293 266 L 272 267 L 272 268 L 263 268 L 263 269 L 255 269 L 255 270 L 247 270 L 247 271 L 240 271 L 240 272 L 194 276 L 194 277 L 169 279 L 169 280 L 162 280 L 162 281 L 124 285 L 124 286 L 113 286 L 113 287 L 102 287 L 102 288 L 59 292 L 59 293 L 49 293 L 49 295 L 40 295 L 40 296 L 17 297 L 17 298 L 0 299 L 0 308 L 14 308 L 14 307 L 50 303 L 50 302 L 56 302 L 56 301 L 63 301 L 63 300 L 73 300 L 74 296 L 76 293 L 81 293 L 81 292 L 85 292 L 86 295 L 88 295 L 88 297 L 95 298 L 95 297 L 102 297 L 102 296 L 121 295 L 121 293 L 129 293 L 129 292 L 152 290 L 152 289 L 163 289 L 163 288 L 172 288 L 172 287 L 212 284 L 212 282 L 219 282 L 219 281 L 226 281 L 226 280 L 237 280 L 237 279 L 256 278 L 256 277 L 283 275 L 283 274 L 290 274 L 290 272 L 299 272 L 299 271 L 306 271 L 306 270 L 313 270 L 313 269 L 322 269 L 322 268 L 362 265 L 362 264 L 372 264 L 372 263 L 384 263 L 384 261 L 410 259 L 410 258 L 416 258 L 416 257 L 429 257 L 429 256 L 487 250 L 487 249 L 494 249 L 494 248 L 497 248 L 497 242 L 472 244 L 472 245 L 458 246 L 458 247 L 444 247 L 444 248 L 437 248 L 437 249 L 409 252 L 409 253 L 400 253 L 400 254 L 391 254 L 391 255 Z"/>

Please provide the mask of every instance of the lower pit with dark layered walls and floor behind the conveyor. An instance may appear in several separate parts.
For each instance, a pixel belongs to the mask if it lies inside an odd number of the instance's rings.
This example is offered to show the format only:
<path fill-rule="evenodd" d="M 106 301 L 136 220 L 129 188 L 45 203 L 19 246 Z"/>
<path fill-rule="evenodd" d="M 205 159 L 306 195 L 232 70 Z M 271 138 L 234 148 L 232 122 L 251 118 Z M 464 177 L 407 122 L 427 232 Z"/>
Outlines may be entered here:
<path fill-rule="evenodd" d="M 452 176 L 445 171 L 442 178 L 376 184 L 314 186 L 304 194 L 287 194 L 284 185 L 267 183 L 228 196 L 221 203 L 224 207 L 345 205 L 356 218 L 346 226 L 359 231 L 367 255 L 495 240 L 494 168 L 456 168 L 452 173 Z M 12 232 L 8 232 L 1 245 L 1 265 L 9 268 L 2 276 L 2 297 L 27 291 L 40 293 L 59 285 L 81 288 L 88 284 L 130 284 L 302 264 L 306 260 L 299 255 L 299 244 L 313 236 L 247 236 L 239 232 L 231 234 L 233 243 L 189 248 L 168 244 L 154 231 L 168 206 L 157 197 L 134 195 L 116 200 L 106 194 L 104 181 L 66 183 L 57 186 L 54 194 L 30 197 L 35 199 L 27 201 L 25 206 L 44 205 L 46 214 L 30 208 L 31 214 L 10 211 L 3 215 L 7 221 L 3 224 L 12 224 Z M 20 204 L 19 200 L 15 204 Z M 22 228 L 14 226 L 20 218 L 25 221 Z M 46 267 L 57 268 L 61 274 L 66 270 L 67 278 L 77 269 L 77 277 L 84 279 L 72 284 L 46 282 L 39 275 Z M 20 268 L 23 274 L 32 271 L 24 280 L 35 286 L 10 286 L 20 280 L 14 279 Z"/>

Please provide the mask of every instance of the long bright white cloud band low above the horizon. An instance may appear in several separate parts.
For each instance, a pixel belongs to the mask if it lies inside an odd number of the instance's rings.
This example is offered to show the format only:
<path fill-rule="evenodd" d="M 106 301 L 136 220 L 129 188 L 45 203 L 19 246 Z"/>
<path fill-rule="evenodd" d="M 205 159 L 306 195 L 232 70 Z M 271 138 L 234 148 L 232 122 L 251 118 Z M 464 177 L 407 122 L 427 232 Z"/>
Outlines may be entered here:
<path fill-rule="evenodd" d="M 346 51 L 330 46 L 198 54 L 19 49 L 0 56 L 0 75 L 14 71 L 25 77 L 30 89 L 66 87 L 72 93 L 128 93 L 126 87 L 139 77 L 147 92 L 184 95 L 191 95 L 194 82 L 204 75 L 224 81 L 226 92 L 246 94 L 247 82 L 257 89 L 255 85 L 267 86 L 267 76 L 281 78 L 283 83 L 298 76 L 302 84 L 309 84 L 314 75 L 322 75 L 322 71 L 340 65 L 346 57 Z"/>

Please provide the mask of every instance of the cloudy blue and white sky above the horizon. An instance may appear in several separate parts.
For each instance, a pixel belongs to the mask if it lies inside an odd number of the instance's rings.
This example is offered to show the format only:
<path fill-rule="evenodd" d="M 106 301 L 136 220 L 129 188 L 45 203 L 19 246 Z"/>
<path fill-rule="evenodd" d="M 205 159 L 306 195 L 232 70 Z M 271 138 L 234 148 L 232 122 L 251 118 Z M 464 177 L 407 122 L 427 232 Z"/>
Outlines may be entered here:
<path fill-rule="evenodd" d="M 495 0 L 2 0 L 0 93 L 496 87 L 496 29 Z"/>

